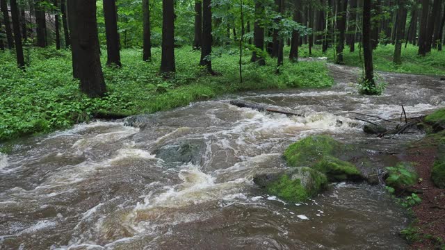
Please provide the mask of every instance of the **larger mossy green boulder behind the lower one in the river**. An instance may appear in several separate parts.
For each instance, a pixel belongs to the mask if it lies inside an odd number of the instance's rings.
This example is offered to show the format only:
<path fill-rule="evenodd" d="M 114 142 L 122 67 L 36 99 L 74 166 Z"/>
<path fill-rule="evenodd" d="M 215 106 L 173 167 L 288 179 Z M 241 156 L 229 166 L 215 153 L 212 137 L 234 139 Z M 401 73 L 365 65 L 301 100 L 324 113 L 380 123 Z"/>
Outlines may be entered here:
<path fill-rule="evenodd" d="M 289 167 L 310 167 L 327 176 L 330 181 L 362 178 L 352 159 L 357 150 L 326 135 L 309 136 L 291 144 L 284 152 Z"/>

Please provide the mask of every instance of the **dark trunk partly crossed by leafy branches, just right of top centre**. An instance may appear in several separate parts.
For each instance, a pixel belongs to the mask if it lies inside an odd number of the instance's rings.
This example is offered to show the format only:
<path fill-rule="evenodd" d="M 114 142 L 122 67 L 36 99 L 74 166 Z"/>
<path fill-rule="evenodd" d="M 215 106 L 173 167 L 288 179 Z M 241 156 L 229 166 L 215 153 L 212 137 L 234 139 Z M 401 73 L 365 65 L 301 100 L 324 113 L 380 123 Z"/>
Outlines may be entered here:
<path fill-rule="evenodd" d="M 259 24 L 264 16 L 264 6 L 262 6 L 260 0 L 255 1 L 255 22 L 253 27 L 253 43 L 255 48 L 259 51 L 264 51 L 264 28 Z M 252 52 L 252 63 L 258 63 L 258 65 L 266 65 L 266 61 L 262 56 L 259 56 L 256 51 Z"/>

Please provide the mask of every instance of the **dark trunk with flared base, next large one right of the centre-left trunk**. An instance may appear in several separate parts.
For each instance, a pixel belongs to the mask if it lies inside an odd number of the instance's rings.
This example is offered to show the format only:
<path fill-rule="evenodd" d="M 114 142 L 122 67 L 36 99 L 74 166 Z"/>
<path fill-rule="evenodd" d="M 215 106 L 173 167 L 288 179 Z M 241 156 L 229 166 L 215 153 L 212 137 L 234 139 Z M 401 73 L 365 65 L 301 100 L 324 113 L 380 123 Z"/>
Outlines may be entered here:
<path fill-rule="evenodd" d="M 211 69 L 211 0 L 202 0 L 202 39 L 201 39 L 200 65 L 206 66 L 210 74 L 215 74 Z"/>

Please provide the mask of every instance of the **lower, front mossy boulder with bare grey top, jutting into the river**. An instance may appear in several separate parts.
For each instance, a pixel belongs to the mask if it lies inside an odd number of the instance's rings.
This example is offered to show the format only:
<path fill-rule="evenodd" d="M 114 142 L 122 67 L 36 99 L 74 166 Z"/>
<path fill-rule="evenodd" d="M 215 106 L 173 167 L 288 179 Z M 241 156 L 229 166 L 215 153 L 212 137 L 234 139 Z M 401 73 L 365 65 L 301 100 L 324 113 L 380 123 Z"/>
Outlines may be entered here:
<path fill-rule="evenodd" d="M 325 174 L 309 167 L 293 167 L 279 174 L 263 174 L 254 183 L 268 194 L 290 202 L 304 201 L 318 194 L 327 184 Z"/>

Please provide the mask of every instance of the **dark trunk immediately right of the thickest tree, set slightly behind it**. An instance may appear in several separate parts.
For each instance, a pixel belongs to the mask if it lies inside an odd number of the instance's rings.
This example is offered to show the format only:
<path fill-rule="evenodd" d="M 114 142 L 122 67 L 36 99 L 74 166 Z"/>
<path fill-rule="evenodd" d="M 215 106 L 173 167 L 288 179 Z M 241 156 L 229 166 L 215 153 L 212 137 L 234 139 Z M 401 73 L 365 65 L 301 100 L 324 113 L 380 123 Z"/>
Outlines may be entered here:
<path fill-rule="evenodd" d="M 116 0 L 104 0 L 106 65 L 122 67 L 120 63 L 120 42 L 118 33 L 118 9 Z"/>

